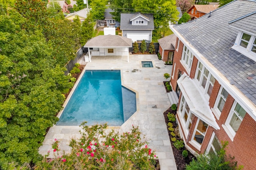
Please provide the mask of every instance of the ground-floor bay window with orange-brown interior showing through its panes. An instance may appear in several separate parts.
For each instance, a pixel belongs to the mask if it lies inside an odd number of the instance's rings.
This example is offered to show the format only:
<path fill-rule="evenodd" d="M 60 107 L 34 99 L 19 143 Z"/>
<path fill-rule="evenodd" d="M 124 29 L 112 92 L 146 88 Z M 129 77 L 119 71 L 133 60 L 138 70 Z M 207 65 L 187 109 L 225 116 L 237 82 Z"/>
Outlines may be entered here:
<path fill-rule="evenodd" d="M 207 128 L 208 124 L 198 118 L 192 137 L 197 144 L 202 144 Z"/>

